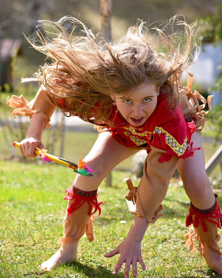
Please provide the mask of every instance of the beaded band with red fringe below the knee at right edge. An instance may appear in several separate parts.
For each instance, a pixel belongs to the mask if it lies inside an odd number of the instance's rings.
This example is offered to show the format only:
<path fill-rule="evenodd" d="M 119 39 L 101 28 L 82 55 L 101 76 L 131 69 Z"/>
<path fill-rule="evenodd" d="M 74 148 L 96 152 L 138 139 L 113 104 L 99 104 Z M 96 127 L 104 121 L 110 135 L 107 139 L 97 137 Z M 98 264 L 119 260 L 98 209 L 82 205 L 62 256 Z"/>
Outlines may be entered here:
<path fill-rule="evenodd" d="M 207 228 L 205 225 L 204 220 L 217 224 L 218 228 L 221 228 L 222 226 L 222 214 L 219 208 L 219 204 L 216 200 L 217 194 L 214 194 L 215 196 L 215 203 L 210 209 L 202 210 L 202 209 L 197 209 L 191 202 L 190 202 L 190 209 L 189 209 L 189 215 L 186 218 L 186 226 L 190 226 L 193 224 L 195 228 L 197 228 L 199 219 L 200 219 L 200 224 L 202 227 L 203 232 L 207 232 Z M 193 217 L 194 220 L 193 220 Z M 215 219 L 215 220 L 213 220 Z"/>

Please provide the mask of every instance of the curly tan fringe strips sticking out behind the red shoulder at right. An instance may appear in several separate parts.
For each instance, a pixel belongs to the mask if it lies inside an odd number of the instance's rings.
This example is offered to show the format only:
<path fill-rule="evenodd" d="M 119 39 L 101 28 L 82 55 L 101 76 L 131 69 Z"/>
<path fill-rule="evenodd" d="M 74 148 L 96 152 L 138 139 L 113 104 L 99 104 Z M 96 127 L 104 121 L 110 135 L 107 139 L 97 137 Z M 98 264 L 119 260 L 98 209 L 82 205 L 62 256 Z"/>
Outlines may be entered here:
<path fill-rule="evenodd" d="M 194 93 L 191 91 L 192 82 L 193 82 L 193 75 L 189 72 L 188 73 L 188 81 L 187 81 L 187 87 L 182 87 L 179 89 L 179 99 L 180 99 L 180 105 L 181 109 L 184 115 L 184 118 L 186 117 L 194 117 L 196 118 L 196 131 L 200 132 L 204 127 L 204 122 L 206 121 L 205 116 L 208 114 L 208 112 L 211 111 L 212 105 L 211 105 L 211 99 L 213 96 L 208 96 L 207 100 L 196 90 Z M 200 100 L 203 104 L 199 105 Z M 206 106 L 206 103 L 208 103 L 209 110 L 204 111 L 204 107 Z"/>

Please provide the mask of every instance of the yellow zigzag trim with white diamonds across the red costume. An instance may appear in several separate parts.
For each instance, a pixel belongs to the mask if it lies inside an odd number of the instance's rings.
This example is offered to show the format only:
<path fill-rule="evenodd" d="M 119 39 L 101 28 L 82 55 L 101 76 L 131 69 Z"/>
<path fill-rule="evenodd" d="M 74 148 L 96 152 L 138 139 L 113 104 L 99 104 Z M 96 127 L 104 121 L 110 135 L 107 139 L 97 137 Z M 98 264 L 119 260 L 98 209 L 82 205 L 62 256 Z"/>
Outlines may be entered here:
<path fill-rule="evenodd" d="M 166 130 L 164 130 L 162 127 L 155 127 L 153 132 L 144 131 L 143 133 L 137 133 L 133 127 L 124 127 L 127 131 L 124 132 L 126 136 L 129 136 L 130 139 L 137 145 L 143 145 L 146 143 L 146 137 L 149 136 L 148 140 L 152 138 L 152 134 L 161 134 L 165 133 L 165 140 L 166 144 L 173 150 L 175 153 L 177 153 L 178 156 L 181 156 L 184 154 L 187 148 L 187 137 L 184 140 L 184 143 L 180 145 L 177 140 L 170 135 Z M 133 135 L 132 135 L 133 134 Z M 145 137 L 144 140 L 141 140 L 137 136 Z"/>

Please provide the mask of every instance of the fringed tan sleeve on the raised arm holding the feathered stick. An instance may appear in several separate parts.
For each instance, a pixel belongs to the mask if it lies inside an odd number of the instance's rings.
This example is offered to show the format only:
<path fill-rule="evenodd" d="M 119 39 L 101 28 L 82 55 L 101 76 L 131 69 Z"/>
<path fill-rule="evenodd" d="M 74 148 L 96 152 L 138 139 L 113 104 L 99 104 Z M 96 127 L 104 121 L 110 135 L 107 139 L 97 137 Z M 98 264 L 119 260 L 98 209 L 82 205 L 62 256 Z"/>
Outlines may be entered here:
<path fill-rule="evenodd" d="M 14 108 L 11 110 L 12 116 L 16 118 L 15 115 L 29 116 L 30 120 L 33 113 L 42 113 L 42 118 L 47 127 L 50 127 L 49 121 L 56 108 L 58 107 L 58 100 L 47 94 L 47 92 L 40 88 L 31 101 L 27 101 L 23 95 L 15 96 L 12 98 L 7 98 L 7 105 Z"/>

